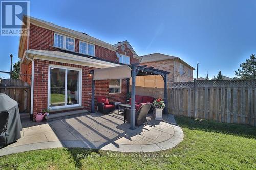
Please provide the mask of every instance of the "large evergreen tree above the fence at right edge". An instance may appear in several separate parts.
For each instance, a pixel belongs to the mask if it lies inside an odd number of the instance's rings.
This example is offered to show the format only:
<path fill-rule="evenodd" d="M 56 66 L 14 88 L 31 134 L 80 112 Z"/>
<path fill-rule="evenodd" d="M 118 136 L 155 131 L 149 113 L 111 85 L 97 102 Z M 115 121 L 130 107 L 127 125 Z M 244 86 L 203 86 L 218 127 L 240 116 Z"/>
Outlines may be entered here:
<path fill-rule="evenodd" d="M 250 59 L 245 60 L 240 64 L 241 69 L 234 71 L 236 76 L 241 79 L 255 79 L 256 78 L 256 57 L 255 54 L 251 54 Z"/>

